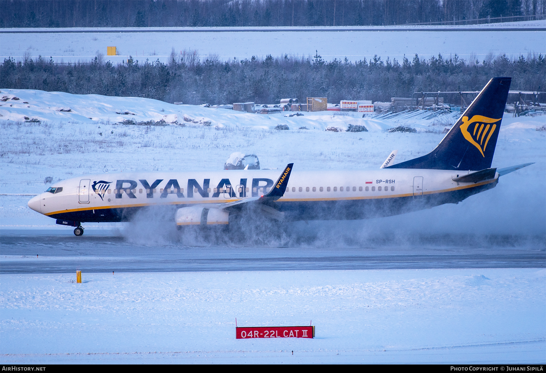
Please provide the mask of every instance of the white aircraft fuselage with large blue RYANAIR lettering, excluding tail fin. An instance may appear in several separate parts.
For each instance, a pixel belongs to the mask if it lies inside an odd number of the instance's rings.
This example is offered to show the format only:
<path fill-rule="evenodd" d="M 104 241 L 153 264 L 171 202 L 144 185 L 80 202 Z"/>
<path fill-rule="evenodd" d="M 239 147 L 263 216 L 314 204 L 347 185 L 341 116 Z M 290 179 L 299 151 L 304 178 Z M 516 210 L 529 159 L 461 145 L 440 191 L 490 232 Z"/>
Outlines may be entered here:
<path fill-rule="evenodd" d="M 454 177 L 462 176 L 458 174 L 460 172 L 430 169 L 293 171 L 284 196 L 276 203 L 281 211 L 301 209 L 302 205 L 298 203 L 302 202 L 306 203 L 307 210 L 316 203 L 323 206 L 322 210 L 328 209 L 325 203 L 336 201 L 382 200 L 389 203 L 389 200 L 394 202 L 408 197 L 413 200 L 416 197 L 464 192 L 495 183 L 498 179 L 497 173 L 494 179 L 478 183 L 453 181 Z M 465 174 L 470 172 L 466 171 Z M 177 207 L 181 208 L 256 197 L 267 193 L 280 173 L 281 170 L 223 170 L 81 176 L 55 183 L 52 187 L 62 187 L 61 192 L 41 193 L 28 205 L 54 218 L 123 221 L 126 219 L 113 219 L 106 212 L 152 205 L 179 205 Z M 477 191 L 468 195 L 474 193 Z M 432 205 L 437 204 L 441 203 Z M 427 207 L 430 206 L 423 205 L 421 208 Z M 333 218 L 340 218 L 342 212 L 337 211 L 336 214 Z M 324 220 L 328 217 L 328 211 L 321 211 L 319 215 L 317 218 Z M 387 215 L 395 214 L 390 212 Z M 293 216 L 298 216 L 297 211 L 293 212 Z M 306 216 L 306 220 L 312 220 L 312 216 Z"/>

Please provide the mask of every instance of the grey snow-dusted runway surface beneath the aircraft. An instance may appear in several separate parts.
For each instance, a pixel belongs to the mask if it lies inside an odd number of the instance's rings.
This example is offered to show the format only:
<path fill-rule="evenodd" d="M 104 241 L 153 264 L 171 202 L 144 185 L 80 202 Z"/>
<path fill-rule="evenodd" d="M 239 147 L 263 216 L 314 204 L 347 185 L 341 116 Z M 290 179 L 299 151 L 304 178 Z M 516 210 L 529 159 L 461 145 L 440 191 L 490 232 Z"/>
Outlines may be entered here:
<path fill-rule="evenodd" d="M 545 268 L 541 238 L 488 236 L 482 245 L 450 238 L 368 247 L 189 247 L 143 245 L 110 231 L 76 237 L 63 230 L 2 230 L 3 274 L 434 268 Z M 468 240 L 459 240 L 468 242 Z"/>

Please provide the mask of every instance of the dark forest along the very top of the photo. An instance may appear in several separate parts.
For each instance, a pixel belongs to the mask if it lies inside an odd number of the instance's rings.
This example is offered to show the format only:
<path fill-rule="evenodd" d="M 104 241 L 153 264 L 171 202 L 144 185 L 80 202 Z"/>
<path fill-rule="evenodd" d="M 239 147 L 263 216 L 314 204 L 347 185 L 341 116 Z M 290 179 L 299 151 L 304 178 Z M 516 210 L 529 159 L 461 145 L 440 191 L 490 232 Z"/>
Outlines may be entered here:
<path fill-rule="evenodd" d="M 505 21 L 542 19 L 537 16 L 543 16 L 546 10 L 546 0 L 2 0 L 1 3 L 0 27 L 365 26 L 458 21 L 462 23 L 456 24 L 464 25 L 468 20 L 489 21 L 489 17 L 504 17 Z M 518 16 L 519 19 L 507 18 Z"/>

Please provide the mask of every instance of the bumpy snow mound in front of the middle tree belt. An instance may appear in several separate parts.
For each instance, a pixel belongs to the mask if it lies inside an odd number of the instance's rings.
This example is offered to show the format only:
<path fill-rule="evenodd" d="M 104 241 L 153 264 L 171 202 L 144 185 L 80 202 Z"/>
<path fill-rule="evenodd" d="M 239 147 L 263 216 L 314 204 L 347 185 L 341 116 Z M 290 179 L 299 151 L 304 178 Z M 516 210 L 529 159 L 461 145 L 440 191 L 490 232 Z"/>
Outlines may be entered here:
<path fill-rule="evenodd" d="M 453 125 L 457 113 L 434 120 L 425 120 L 429 113 L 411 116 L 396 116 L 390 120 L 379 120 L 375 116 L 362 117 L 355 112 L 314 111 L 301 116 L 289 113 L 250 114 L 200 105 L 174 105 L 163 101 L 141 97 L 113 97 L 100 94 L 71 94 L 38 90 L 0 89 L 0 120 L 49 121 L 52 123 L 88 124 L 162 124 L 193 127 L 225 127 L 238 125 L 250 128 L 275 129 L 287 125 L 289 129 L 320 129 L 336 127 L 346 130 L 349 125 L 365 126 L 371 132 L 381 132 L 400 124 L 411 125 L 422 130 L 437 125 L 440 132 Z M 441 120 L 440 120 L 441 118 Z M 439 121 L 440 120 L 440 121 Z M 153 122 L 151 122 L 153 121 Z M 156 123 L 159 122 L 159 123 Z M 443 127 L 442 127 L 443 126 Z"/>

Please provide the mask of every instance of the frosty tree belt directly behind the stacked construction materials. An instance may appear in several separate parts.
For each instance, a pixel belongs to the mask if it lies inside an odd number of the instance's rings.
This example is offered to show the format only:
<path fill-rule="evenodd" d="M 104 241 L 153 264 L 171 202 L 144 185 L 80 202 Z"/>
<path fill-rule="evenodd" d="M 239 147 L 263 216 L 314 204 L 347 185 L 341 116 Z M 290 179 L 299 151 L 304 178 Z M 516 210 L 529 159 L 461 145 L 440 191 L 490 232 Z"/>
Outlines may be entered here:
<path fill-rule="evenodd" d="M 92 63 L 57 64 L 45 58 L 5 59 L 0 66 L 3 88 L 62 91 L 76 94 L 132 96 L 183 102 L 225 104 L 254 101 L 278 103 L 282 97 L 328 97 L 390 101 L 422 91 L 480 90 L 492 76 L 512 76 L 516 90 L 544 90 L 546 58 L 489 55 L 483 61 L 455 56 L 415 55 L 350 62 L 312 58 L 252 57 L 224 62 L 216 56 L 200 57 L 198 51 L 173 54 L 169 63 L 130 58 L 114 65 L 98 55 Z"/>

